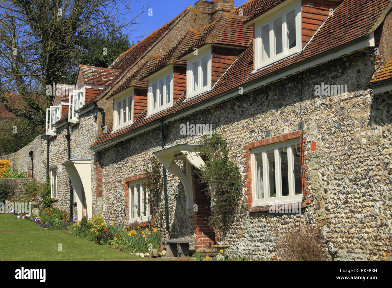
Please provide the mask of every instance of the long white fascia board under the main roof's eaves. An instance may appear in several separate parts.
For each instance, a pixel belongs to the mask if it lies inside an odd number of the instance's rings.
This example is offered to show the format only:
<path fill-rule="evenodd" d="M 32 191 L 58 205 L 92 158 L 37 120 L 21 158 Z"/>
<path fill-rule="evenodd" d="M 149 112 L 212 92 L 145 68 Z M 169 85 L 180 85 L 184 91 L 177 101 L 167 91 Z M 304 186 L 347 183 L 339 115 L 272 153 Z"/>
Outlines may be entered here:
<path fill-rule="evenodd" d="M 340 49 L 340 50 L 338 50 L 336 52 L 332 52 L 332 53 L 329 53 L 327 55 L 324 55 L 324 56 L 321 56 L 319 58 L 316 58 L 314 60 L 310 60 L 308 62 L 305 62 L 303 64 L 295 66 L 295 67 L 293 67 L 291 69 L 283 71 L 283 72 L 281 72 L 279 74 L 272 75 L 270 77 L 261 79 L 260 81 L 257 81 L 255 83 L 252 83 L 252 84 L 250 84 L 248 86 L 245 86 L 245 87 L 243 87 L 243 92 L 244 92 L 243 94 L 245 94 L 246 92 L 250 92 L 250 91 L 252 91 L 254 89 L 260 88 L 261 86 L 267 85 L 267 84 L 269 84 L 271 82 L 276 82 L 280 78 L 286 78 L 286 77 L 291 76 L 293 74 L 296 74 L 298 72 L 301 72 L 301 71 L 304 71 L 306 69 L 309 69 L 310 67 L 315 67 L 315 66 L 321 65 L 321 64 L 323 64 L 325 62 L 334 60 L 336 58 L 343 57 L 343 56 L 345 56 L 347 54 L 353 53 L 355 51 L 358 51 L 358 50 L 361 50 L 361 49 L 364 49 L 364 48 L 367 48 L 367 47 L 374 47 L 374 33 L 373 32 L 370 33 L 369 39 L 359 40 L 357 43 L 352 44 L 352 45 L 347 46 L 347 47 L 344 47 L 344 48 L 342 48 L 342 49 Z M 230 93 L 230 91 L 228 91 L 229 93 L 224 94 L 224 95 L 222 95 L 222 96 L 220 96 L 218 98 L 212 99 L 210 101 L 207 101 L 205 103 L 202 103 L 200 105 L 197 105 L 196 107 L 194 107 L 192 109 L 189 109 L 189 110 L 186 110 L 186 111 L 183 111 L 183 112 L 180 111 L 178 114 L 175 114 L 173 116 L 169 116 L 168 118 L 165 118 L 165 121 L 166 122 L 171 122 L 171 121 L 174 121 L 174 120 L 178 120 L 178 119 L 180 119 L 182 117 L 188 116 L 189 114 L 192 114 L 192 113 L 198 112 L 200 110 L 206 109 L 206 108 L 208 108 L 210 106 L 216 105 L 216 104 L 218 104 L 218 103 L 220 103 L 222 101 L 225 101 L 225 100 L 228 100 L 230 98 L 239 96 L 237 88 L 233 88 L 232 90 L 235 90 L 235 91 L 231 92 L 231 93 Z M 126 139 L 132 138 L 132 137 L 134 137 L 136 135 L 142 134 L 144 132 L 147 132 L 148 130 L 154 129 L 154 128 L 159 127 L 159 126 L 160 126 L 159 121 L 154 121 L 151 124 L 146 125 L 145 127 L 143 127 L 143 129 L 140 129 L 140 130 L 137 129 L 134 132 L 132 132 L 132 130 L 131 130 L 129 134 L 125 134 L 125 135 L 120 136 L 118 138 L 108 140 L 105 143 L 98 144 L 98 145 L 96 145 L 94 147 L 90 147 L 90 149 L 92 149 L 93 151 L 99 151 L 99 150 L 105 149 L 107 147 L 113 146 L 113 145 L 115 145 L 118 142 L 121 142 L 121 141 L 124 141 Z"/>

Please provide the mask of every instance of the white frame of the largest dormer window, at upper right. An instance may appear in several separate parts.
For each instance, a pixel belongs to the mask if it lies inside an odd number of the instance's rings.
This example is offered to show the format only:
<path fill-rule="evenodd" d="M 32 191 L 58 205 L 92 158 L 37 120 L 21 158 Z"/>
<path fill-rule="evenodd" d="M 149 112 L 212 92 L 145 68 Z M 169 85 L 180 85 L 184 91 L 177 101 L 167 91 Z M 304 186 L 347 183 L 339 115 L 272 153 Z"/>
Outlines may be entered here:
<path fill-rule="evenodd" d="M 283 6 L 282 6 L 283 5 Z M 296 46 L 289 49 L 289 40 L 287 37 L 287 24 L 286 24 L 286 14 L 295 10 L 295 31 L 296 31 Z M 258 70 L 271 63 L 277 62 L 281 59 L 287 58 L 295 53 L 302 50 L 302 5 L 301 1 L 294 0 L 288 1 L 287 4 L 284 2 L 278 5 L 276 9 L 272 9 L 267 15 L 262 15 L 262 18 L 254 22 L 254 68 Z M 267 17 L 267 18 L 266 18 Z M 282 18 L 282 52 L 275 54 L 275 31 L 274 31 L 274 21 Z M 261 40 L 261 28 L 269 24 L 269 51 L 270 57 L 268 59 L 262 59 L 262 40 Z"/>

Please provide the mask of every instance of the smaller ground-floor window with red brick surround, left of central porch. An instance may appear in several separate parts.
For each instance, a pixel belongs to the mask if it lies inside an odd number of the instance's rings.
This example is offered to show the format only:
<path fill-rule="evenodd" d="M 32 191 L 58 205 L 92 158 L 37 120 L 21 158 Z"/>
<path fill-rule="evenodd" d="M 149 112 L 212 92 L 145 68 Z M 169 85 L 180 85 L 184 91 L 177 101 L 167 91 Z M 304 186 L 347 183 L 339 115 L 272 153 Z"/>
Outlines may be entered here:
<path fill-rule="evenodd" d="M 149 221 L 149 219 L 151 219 L 150 217 L 152 217 L 151 215 L 150 216 L 142 216 L 142 219 L 139 216 L 131 217 L 131 218 L 129 217 L 129 214 L 132 213 L 132 203 L 134 205 L 135 204 L 138 205 L 138 208 L 136 208 L 136 210 L 138 210 L 139 208 L 142 208 L 142 210 L 143 210 L 143 207 L 142 207 L 144 204 L 143 197 L 146 197 L 145 199 L 148 198 L 148 193 L 145 190 L 145 188 L 143 187 L 143 183 L 142 183 L 143 178 L 146 178 L 145 174 L 139 174 L 136 176 L 124 178 L 123 190 L 124 190 L 124 204 L 125 204 L 125 217 L 126 217 L 125 219 L 126 219 L 126 222 L 128 223 L 127 224 L 128 226 L 130 226 L 134 222 L 137 222 L 139 226 L 145 226 L 145 225 L 152 224 L 152 222 L 155 221 L 154 218 L 152 218 L 152 220 Z M 139 196 L 136 195 L 136 200 L 135 200 L 135 195 L 133 195 L 133 199 L 132 199 L 132 190 L 131 190 L 132 187 L 134 189 L 136 187 L 136 190 L 133 190 L 133 191 L 140 192 Z M 138 198 L 138 197 L 140 197 L 140 198 Z M 140 203 L 142 203 L 142 205 L 140 205 Z M 146 205 L 147 205 L 147 207 L 145 207 L 145 209 L 146 210 L 149 209 L 151 212 L 151 208 L 149 208 L 149 203 L 146 203 Z M 135 208 L 133 208 L 133 209 L 135 209 Z"/>

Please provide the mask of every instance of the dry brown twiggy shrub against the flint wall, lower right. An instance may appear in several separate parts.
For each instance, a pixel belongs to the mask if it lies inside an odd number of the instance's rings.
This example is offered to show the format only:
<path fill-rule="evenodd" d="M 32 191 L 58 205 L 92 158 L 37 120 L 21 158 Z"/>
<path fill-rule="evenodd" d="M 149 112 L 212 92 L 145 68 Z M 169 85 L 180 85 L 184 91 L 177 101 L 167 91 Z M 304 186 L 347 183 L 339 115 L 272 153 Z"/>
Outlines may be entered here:
<path fill-rule="evenodd" d="M 277 232 L 275 240 L 277 255 L 283 261 L 327 261 L 323 242 L 319 229 L 308 223 Z"/>

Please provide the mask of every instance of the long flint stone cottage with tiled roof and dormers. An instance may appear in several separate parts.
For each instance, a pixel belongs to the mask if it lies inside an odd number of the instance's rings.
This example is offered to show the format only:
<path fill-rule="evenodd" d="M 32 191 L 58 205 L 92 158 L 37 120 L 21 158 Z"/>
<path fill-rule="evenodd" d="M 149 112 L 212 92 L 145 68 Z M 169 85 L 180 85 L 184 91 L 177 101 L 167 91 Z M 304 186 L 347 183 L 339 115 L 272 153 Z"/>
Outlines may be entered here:
<path fill-rule="evenodd" d="M 20 171 L 31 161 L 40 181 L 47 166 L 54 206 L 68 210 L 72 196 L 74 219 L 144 225 L 154 216 L 134 205 L 154 155 L 167 169 L 169 238 L 208 248 L 211 200 L 194 181 L 201 134 L 180 133 L 206 124 L 243 177 L 229 254 L 269 258 L 275 231 L 312 223 L 334 260 L 391 260 L 391 7 L 200 0 L 109 67 L 80 65 L 77 90 L 56 88 L 42 134 L 1 159 Z M 270 213 L 276 202 L 300 213 Z"/>

